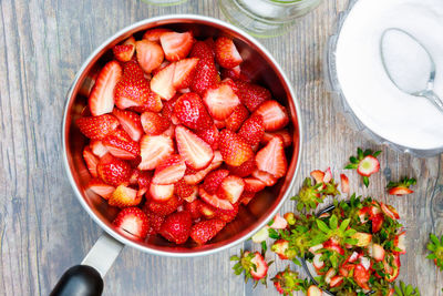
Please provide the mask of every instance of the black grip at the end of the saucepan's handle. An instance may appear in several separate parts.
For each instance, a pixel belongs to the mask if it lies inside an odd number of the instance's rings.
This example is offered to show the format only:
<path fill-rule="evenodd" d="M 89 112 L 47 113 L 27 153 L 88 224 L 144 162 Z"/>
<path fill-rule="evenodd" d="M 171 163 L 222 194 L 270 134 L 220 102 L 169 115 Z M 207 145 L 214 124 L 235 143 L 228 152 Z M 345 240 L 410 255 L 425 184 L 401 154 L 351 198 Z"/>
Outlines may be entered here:
<path fill-rule="evenodd" d="M 87 265 L 76 265 L 62 275 L 50 296 L 100 296 L 102 292 L 103 278 L 99 272 Z"/>

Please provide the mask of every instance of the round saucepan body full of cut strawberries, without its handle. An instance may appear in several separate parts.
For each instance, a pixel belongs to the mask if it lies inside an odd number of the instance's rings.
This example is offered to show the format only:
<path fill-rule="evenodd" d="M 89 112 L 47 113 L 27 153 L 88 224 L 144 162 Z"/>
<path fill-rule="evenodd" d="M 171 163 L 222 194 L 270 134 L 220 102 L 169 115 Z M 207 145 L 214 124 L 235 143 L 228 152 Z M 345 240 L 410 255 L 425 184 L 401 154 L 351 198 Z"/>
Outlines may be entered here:
<path fill-rule="evenodd" d="M 63 118 L 68 176 L 113 238 L 195 256 L 250 237 L 288 197 L 301 121 L 290 82 L 237 28 L 167 16 L 85 61 Z"/>

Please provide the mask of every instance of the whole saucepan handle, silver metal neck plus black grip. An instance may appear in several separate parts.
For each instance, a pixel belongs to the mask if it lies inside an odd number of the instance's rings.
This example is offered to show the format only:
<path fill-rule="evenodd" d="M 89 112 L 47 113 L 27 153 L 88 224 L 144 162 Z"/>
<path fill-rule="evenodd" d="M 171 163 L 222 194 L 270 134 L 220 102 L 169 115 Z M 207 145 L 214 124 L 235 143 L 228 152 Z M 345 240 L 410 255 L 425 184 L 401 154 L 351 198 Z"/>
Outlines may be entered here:
<path fill-rule="evenodd" d="M 81 265 L 69 268 L 50 296 L 100 296 L 103 277 L 123 248 L 123 244 L 103 233 Z"/>

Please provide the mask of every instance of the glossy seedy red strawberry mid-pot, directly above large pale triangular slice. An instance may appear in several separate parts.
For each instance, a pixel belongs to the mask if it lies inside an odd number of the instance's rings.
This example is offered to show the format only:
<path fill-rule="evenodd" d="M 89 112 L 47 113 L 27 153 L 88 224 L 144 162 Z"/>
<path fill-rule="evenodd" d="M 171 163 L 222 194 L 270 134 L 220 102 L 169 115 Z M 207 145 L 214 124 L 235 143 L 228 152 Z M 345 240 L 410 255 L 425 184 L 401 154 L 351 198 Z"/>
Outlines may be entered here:
<path fill-rule="evenodd" d="M 174 105 L 174 114 L 184 125 L 193 130 L 206 130 L 213 125 L 213 119 L 202 99 L 193 92 L 185 93 L 177 100 Z"/>

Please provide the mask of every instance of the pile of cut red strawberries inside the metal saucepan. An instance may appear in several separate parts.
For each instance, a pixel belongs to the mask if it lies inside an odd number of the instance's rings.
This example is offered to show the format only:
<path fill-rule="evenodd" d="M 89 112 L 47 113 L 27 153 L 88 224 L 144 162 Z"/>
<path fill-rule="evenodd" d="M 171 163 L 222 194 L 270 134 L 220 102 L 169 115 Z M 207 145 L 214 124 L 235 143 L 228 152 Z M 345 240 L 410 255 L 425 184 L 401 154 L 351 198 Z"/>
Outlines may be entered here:
<path fill-rule="evenodd" d="M 90 139 L 87 190 L 120 210 L 113 224 L 124 235 L 209 244 L 286 175 L 287 109 L 241 71 L 228 37 L 157 28 L 112 53 L 87 98 L 91 115 L 75 121 Z M 267 271 L 257 254 L 248 266 L 254 278 Z"/>

